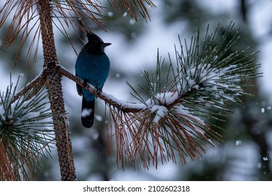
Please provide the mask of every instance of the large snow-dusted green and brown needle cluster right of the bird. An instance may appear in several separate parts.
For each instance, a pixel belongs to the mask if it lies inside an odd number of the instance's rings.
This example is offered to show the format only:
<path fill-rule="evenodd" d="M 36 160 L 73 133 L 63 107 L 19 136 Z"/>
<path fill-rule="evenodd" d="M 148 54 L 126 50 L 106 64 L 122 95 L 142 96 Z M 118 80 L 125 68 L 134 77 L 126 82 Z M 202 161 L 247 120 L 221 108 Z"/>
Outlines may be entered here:
<path fill-rule="evenodd" d="M 243 82 L 259 77 L 256 71 L 259 65 L 252 59 L 255 53 L 245 54 L 245 49 L 227 54 L 239 38 L 236 32 L 227 41 L 233 26 L 231 23 L 226 30 L 218 26 L 216 33 L 211 34 L 207 29 L 202 46 L 199 33 L 190 45 L 185 41 L 185 48 L 180 40 L 181 52 L 176 50 L 176 65 L 169 56 L 170 63 L 165 68 L 158 54 L 156 72 L 144 73 L 148 88 L 141 87 L 149 100 L 144 100 L 139 93 L 134 95 L 144 110 L 132 115 L 109 105 L 115 124 L 111 135 L 115 136 L 117 160 L 122 166 L 135 166 L 139 162 L 145 168 L 151 163 L 157 166 L 158 157 L 162 163 L 169 159 L 176 162 L 174 150 L 186 164 L 187 157 L 199 159 L 206 152 L 206 145 L 214 148 L 213 142 L 220 141 L 221 136 L 201 118 L 221 120 L 220 113 L 229 111 L 229 104 L 241 103 L 241 96 L 246 95 Z"/>

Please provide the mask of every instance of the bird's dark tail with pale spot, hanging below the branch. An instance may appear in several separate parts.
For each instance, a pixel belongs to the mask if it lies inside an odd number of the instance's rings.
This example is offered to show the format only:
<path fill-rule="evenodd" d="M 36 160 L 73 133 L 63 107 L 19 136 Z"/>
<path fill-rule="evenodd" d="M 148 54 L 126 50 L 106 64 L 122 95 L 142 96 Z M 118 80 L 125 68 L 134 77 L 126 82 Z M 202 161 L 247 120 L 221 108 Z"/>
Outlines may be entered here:
<path fill-rule="evenodd" d="M 83 96 L 81 113 L 81 123 L 83 127 L 90 128 L 91 126 L 93 126 L 94 104 L 95 100 L 87 101 Z"/>

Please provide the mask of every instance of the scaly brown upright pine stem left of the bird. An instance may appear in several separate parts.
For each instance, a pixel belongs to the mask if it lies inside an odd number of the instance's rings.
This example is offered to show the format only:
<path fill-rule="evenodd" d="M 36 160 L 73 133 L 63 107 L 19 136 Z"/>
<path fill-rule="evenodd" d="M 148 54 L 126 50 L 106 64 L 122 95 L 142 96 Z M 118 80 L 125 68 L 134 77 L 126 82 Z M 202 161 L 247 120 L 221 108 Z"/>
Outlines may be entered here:
<path fill-rule="evenodd" d="M 72 143 L 68 132 L 68 123 L 64 107 L 61 86 L 61 74 L 56 69 L 58 64 L 52 26 L 50 0 L 38 0 L 40 30 L 43 40 L 44 68 L 49 74 L 45 81 L 50 99 L 50 109 L 56 134 L 56 148 L 59 155 L 61 180 L 77 180 L 73 160 Z"/>

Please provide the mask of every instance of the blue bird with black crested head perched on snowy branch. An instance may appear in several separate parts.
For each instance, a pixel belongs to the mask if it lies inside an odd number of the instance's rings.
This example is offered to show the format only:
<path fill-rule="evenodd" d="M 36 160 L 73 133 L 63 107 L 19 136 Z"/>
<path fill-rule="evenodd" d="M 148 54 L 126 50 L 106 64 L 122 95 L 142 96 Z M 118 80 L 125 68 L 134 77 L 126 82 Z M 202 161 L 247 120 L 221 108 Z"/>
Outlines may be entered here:
<path fill-rule="evenodd" d="M 75 63 L 75 75 L 84 80 L 84 83 L 89 83 L 102 90 L 103 85 L 109 75 L 109 58 L 104 52 L 105 47 L 111 43 L 105 43 L 96 34 L 86 33 L 88 42 L 82 48 L 80 54 L 77 56 Z M 94 104 L 96 95 L 93 95 L 85 88 L 77 84 L 78 95 L 82 97 L 82 114 L 81 122 L 86 128 L 93 125 L 94 118 Z"/>

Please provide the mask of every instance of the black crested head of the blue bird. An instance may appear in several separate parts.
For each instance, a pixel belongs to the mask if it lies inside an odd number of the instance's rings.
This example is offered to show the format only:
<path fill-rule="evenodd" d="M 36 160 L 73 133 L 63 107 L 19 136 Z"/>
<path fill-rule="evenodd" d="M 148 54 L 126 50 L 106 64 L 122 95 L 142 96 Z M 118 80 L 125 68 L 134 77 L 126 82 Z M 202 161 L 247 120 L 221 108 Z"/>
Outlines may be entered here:
<path fill-rule="evenodd" d="M 93 54 L 104 54 L 105 47 L 112 45 L 112 43 L 103 42 L 102 39 L 100 39 L 96 34 L 92 33 L 91 31 L 87 32 L 86 36 L 88 38 L 88 42 L 83 47 L 83 49 L 87 52 L 91 52 Z"/>

